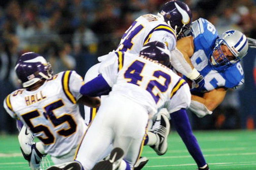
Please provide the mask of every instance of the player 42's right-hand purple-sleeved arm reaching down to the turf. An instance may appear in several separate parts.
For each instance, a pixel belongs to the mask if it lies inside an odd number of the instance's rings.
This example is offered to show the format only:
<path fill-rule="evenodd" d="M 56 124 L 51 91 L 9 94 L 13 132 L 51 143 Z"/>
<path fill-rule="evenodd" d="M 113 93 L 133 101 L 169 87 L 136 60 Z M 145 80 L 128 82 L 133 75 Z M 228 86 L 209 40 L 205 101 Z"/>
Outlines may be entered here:
<path fill-rule="evenodd" d="M 176 112 L 170 114 L 171 120 L 179 133 L 182 141 L 186 145 L 188 152 L 196 161 L 197 166 L 204 167 L 206 166 L 206 161 L 204 159 L 203 153 L 200 149 L 200 146 L 194 136 L 189 120 L 186 109 L 180 109 Z"/>

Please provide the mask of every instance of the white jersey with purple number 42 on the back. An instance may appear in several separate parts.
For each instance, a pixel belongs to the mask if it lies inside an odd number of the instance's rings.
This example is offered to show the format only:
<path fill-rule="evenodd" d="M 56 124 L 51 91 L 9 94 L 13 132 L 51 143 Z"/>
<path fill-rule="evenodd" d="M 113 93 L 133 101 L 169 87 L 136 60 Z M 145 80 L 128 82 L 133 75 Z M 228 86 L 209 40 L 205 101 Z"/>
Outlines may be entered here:
<path fill-rule="evenodd" d="M 172 113 L 190 104 L 191 94 L 185 80 L 148 57 L 120 51 L 110 53 L 100 64 L 99 72 L 112 87 L 109 95 L 124 95 L 147 108 L 151 116 L 160 107 Z"/>

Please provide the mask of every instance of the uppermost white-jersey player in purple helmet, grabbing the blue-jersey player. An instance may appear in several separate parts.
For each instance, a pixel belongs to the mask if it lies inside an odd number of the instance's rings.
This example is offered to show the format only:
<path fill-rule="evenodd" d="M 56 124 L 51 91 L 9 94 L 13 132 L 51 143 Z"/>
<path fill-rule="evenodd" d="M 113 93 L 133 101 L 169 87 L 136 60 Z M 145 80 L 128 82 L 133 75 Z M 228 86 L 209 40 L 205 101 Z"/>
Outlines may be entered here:
<path fill-rule="evenodd" d="M 187 4 L 181 1 L 167 2 L 159 10 L 158 15 L 146 14 L 137 18 L 124 33 L 116 52 L 139 54 L 147 42 L 163 42 L 169 50 L 176 51 L 178 54 L 170 58 L 172 66 L 193 81 L 193 88 L 201 87 L 204 85 L 203 76 L 194 68 L 190 60 L 185 60 L 175 48 L 176 39 L 180 39 L 185 32 L 189 31 L 191 22 L 192 14 Z M 104 58 L 104 56 L 99 57 L 99 61 L 103 61 Z M 98 63 L 88 70 L 84 78 L 85 82 L 98 76 L 99 65 Z M 95 114 L 95 108 L 85 107 L 86 124 L 89 124 Z"/>

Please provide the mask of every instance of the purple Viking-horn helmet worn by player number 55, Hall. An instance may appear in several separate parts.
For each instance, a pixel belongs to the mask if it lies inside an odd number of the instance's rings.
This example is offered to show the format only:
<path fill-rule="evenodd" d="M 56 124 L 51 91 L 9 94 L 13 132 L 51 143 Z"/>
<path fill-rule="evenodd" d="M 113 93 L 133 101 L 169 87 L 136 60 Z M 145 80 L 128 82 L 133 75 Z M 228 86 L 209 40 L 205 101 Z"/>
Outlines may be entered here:
<path fill-rule="evenodd" d="M 23 87 L 35 84 L 42 78 L 52 77 L 52 66 L 45 58 L 34 52 L 22 54 L 16 62 L 15 71 Z"/>

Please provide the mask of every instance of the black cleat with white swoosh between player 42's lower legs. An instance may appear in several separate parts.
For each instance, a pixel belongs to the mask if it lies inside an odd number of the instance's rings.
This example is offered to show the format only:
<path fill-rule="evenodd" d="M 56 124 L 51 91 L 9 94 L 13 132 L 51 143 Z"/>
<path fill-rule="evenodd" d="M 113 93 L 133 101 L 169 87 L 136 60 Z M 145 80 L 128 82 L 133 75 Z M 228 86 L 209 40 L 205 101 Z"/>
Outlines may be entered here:
<path fill-rule="evenodd" d="M 98 162 L 92 170 L 117 170 L 124 157 L 124 151 L 121 148 L 114 148 L 107 160 Z"/>

